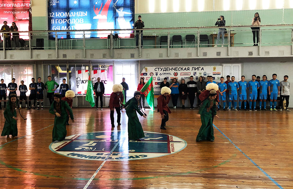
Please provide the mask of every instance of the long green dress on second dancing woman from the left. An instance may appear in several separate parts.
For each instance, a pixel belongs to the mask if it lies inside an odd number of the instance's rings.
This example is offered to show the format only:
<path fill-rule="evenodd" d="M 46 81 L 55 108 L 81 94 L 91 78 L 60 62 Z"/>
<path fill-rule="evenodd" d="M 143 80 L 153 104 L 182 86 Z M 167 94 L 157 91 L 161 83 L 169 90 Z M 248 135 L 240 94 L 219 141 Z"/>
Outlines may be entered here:
<path fill-rule="evenodd" d="M 69 112 L 70 118 L 74 119 L 70 106 L 64 100 L 60 100 L 59 103 L 54 101 L 49 109 L 49 112 L 55 115 L 54 127 L 52 132 L 53 142 L 55 140 L 62 141 L 65 139 L 67 135 L 66 122 L 67 122 L 68 114 L 66 109 Z M 59 113 L 61 116 L 57 117 L 56 112 Z"/>

